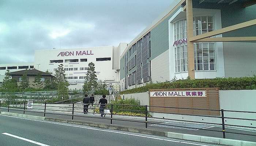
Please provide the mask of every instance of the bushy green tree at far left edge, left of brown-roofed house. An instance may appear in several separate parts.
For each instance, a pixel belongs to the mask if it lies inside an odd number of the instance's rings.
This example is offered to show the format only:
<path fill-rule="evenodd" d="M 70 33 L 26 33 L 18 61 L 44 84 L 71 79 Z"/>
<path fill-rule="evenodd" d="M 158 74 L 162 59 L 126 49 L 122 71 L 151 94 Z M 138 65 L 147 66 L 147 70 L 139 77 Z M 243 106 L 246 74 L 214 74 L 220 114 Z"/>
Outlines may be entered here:
<path fill-rule="evenodd" d="M 10 70 L 7 70 L 7 73 L 5 73 L 1 88 L 4 92 L 16 92 L 18 91 L 18 84 L 17 81 L 10 76 L 9 71 Z"/>

